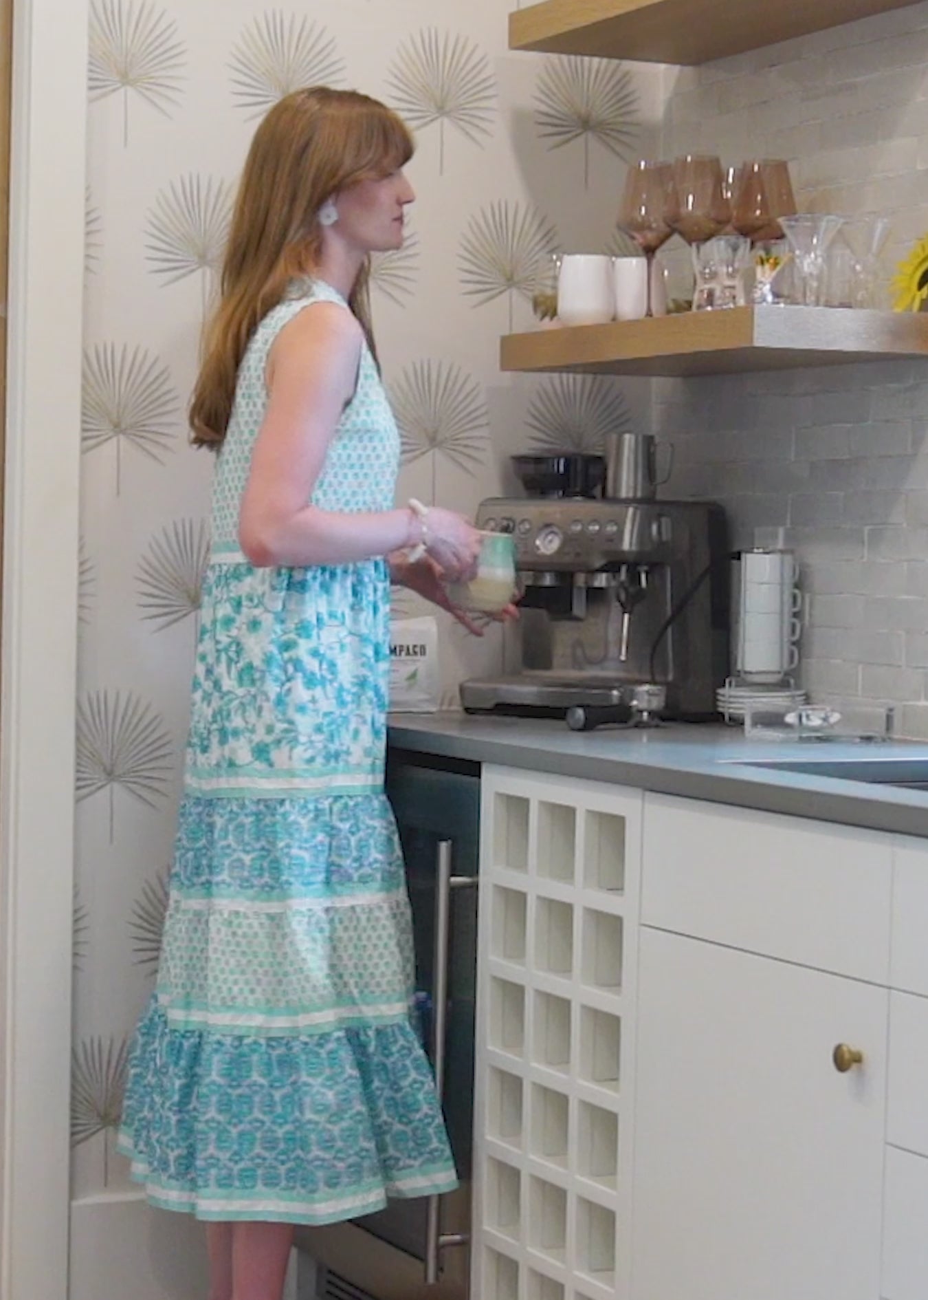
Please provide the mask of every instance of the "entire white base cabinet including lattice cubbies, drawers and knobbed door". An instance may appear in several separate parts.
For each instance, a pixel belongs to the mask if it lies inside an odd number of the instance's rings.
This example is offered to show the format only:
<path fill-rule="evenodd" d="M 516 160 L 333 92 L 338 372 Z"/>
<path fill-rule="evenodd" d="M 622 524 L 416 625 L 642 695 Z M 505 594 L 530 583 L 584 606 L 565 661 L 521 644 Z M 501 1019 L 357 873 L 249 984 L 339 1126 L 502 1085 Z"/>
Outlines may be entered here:
<path fill-rule="evenodd" d="M 924 1300 L 928 845 L 487 768 L 481 880 L 472 1300 Z"/>

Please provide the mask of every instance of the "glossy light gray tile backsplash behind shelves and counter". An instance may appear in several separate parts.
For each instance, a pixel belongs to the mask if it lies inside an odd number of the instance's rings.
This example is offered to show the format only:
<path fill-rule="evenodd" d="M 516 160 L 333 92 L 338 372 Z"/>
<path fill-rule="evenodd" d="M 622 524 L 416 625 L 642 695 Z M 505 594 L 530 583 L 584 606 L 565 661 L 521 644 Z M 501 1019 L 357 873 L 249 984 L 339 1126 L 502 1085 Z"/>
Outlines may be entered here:
<path fill-rule="evenodd" d="M 928 233 L 928 3 L 667 75 L 665 156 L 789 157 L 801 209 L 889 214 L 886 285 Z M 928 360 L 660 380 L 652 420 L 675 494 L 723 502 L 736 547 L 795 549 L 815 698 L 928 738 Z"/>

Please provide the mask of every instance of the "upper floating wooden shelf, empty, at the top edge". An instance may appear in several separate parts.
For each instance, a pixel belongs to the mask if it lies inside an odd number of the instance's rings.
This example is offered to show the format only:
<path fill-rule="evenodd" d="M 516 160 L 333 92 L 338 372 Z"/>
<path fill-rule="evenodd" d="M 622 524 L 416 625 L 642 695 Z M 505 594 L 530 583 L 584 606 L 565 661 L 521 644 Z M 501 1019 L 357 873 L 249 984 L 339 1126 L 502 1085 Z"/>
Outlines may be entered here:
<path fill-rule="evenodd" d="M 509 14 L 509 48 L 704 64 L 915 0 L 545 0 Z"/>

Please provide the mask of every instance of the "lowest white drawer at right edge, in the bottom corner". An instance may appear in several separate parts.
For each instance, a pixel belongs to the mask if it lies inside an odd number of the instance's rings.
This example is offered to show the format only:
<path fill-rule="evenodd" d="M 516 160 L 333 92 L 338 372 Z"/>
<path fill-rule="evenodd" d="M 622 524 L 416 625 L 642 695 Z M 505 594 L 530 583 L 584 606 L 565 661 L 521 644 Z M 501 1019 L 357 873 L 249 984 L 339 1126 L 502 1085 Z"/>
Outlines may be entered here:
<path fill-rule="evenodd" d="M 924 1300 L 928 1277 L 928 1160 L 886 1148 L 883 1300 Z"/>

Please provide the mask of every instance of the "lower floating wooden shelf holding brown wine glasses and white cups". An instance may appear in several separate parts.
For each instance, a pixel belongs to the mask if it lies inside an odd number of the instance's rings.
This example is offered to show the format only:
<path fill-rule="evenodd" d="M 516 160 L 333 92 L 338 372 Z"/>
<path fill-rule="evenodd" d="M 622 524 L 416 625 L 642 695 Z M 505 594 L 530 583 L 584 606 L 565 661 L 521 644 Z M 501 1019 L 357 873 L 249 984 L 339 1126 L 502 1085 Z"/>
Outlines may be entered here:
<path fill-rule="evenodd" d="M 928 313 L 734 307 L 508 334 L 503 370 L 730 374 L 928 358 Z"/>

